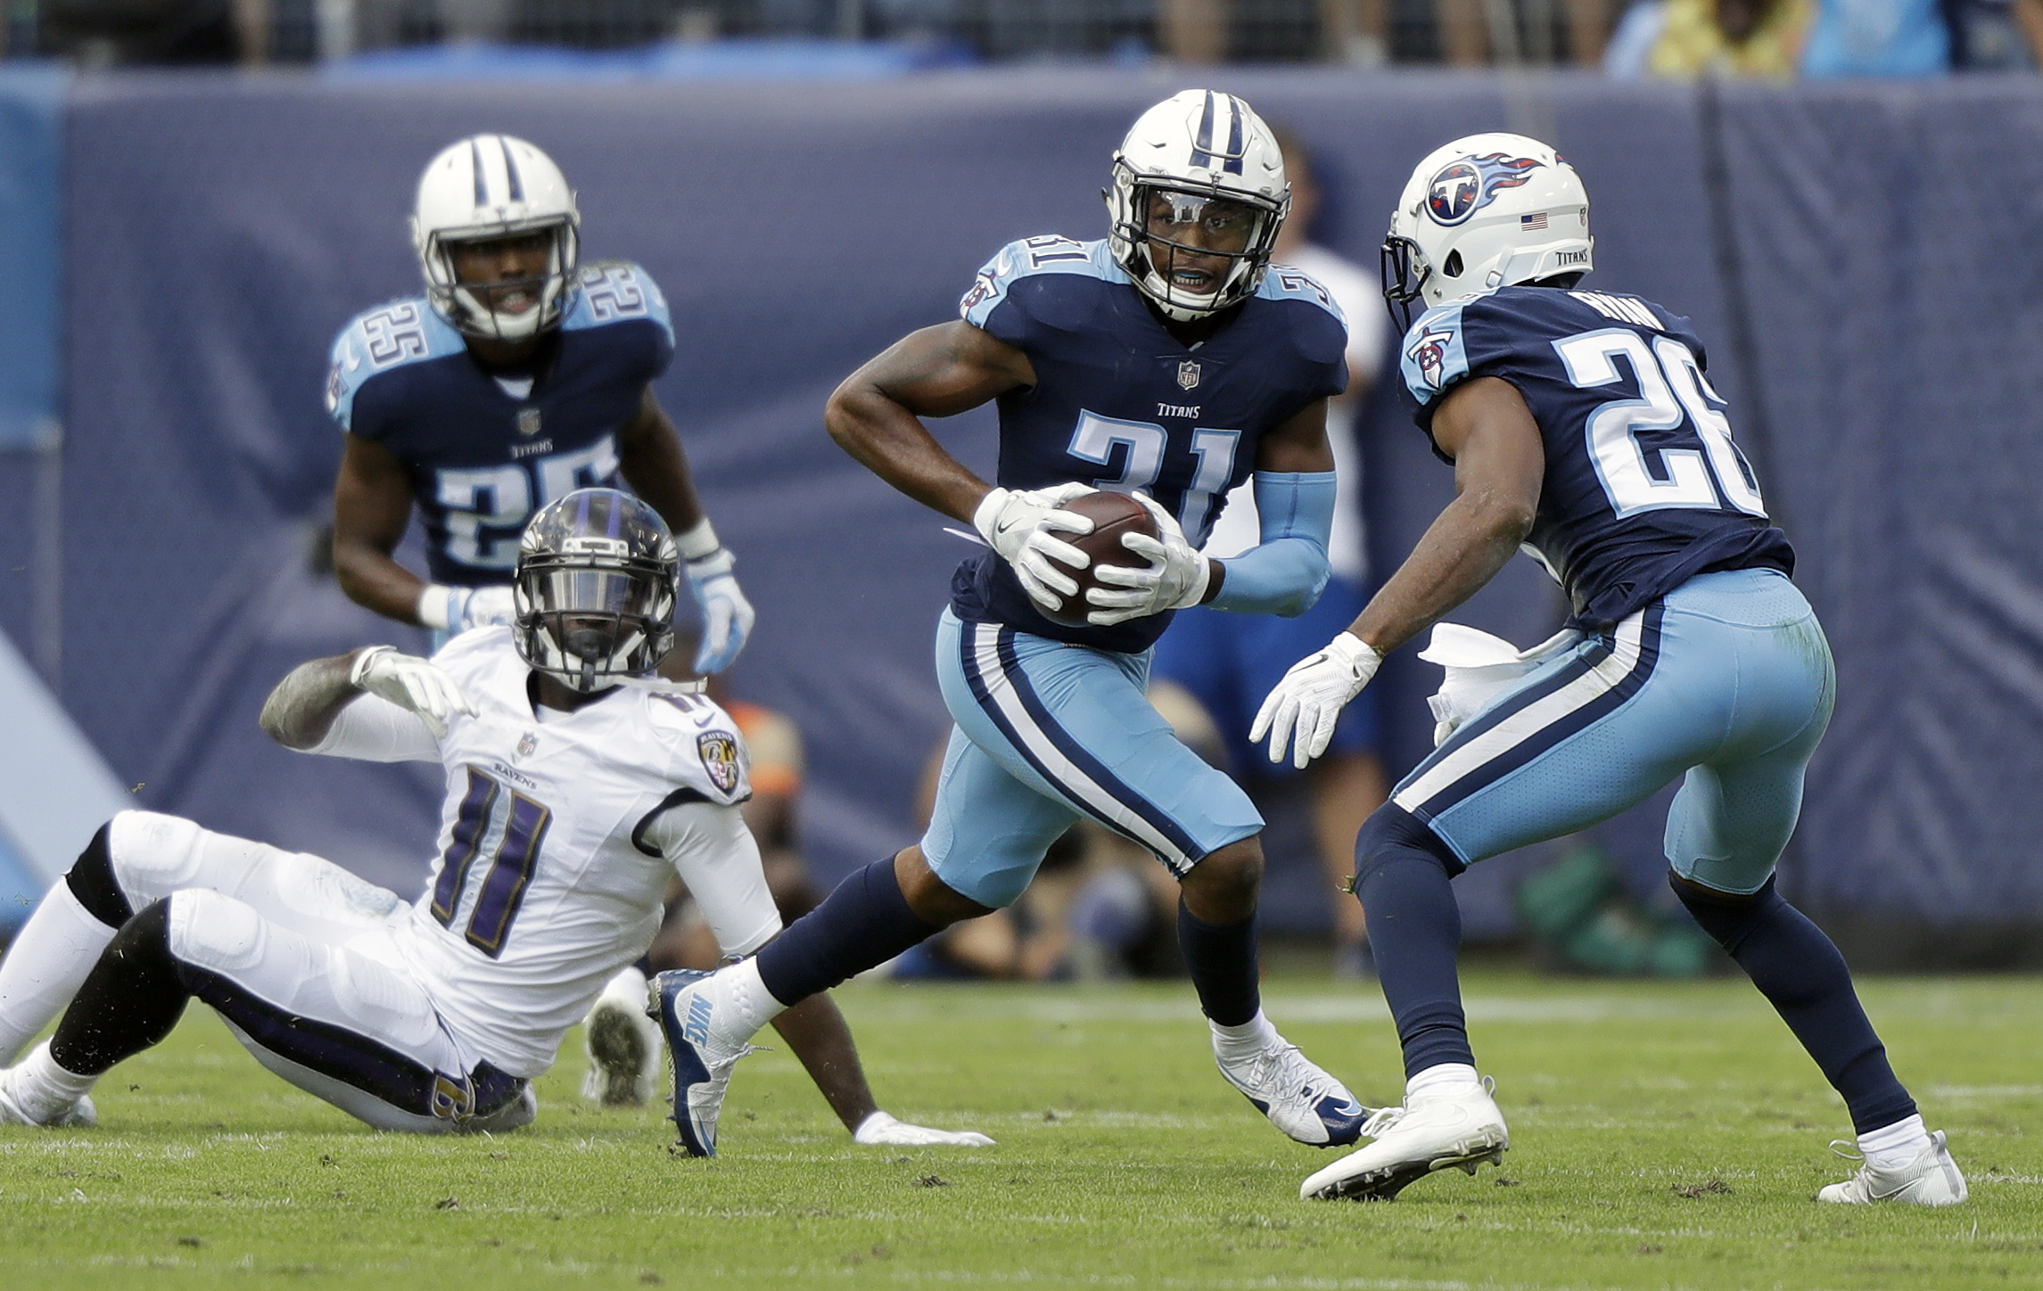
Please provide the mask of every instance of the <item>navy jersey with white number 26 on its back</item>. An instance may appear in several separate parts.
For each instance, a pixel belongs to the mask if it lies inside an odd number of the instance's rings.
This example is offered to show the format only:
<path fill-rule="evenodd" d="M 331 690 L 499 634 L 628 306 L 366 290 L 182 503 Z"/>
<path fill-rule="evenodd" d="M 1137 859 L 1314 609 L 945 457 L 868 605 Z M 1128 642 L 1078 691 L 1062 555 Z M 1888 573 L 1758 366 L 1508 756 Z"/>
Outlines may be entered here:
<path fill-rule="evenodd" d="M 1440 396 L 1469 378 L 1524 396 L 1547 449 L 1526 545 L 1589 631 L 1696 574 L 1794 572 L 1706 366 L 1688 319 L 1638 296 L 1540 286 L 1430 308 L 1401 351 L 1428 435 Z"/>

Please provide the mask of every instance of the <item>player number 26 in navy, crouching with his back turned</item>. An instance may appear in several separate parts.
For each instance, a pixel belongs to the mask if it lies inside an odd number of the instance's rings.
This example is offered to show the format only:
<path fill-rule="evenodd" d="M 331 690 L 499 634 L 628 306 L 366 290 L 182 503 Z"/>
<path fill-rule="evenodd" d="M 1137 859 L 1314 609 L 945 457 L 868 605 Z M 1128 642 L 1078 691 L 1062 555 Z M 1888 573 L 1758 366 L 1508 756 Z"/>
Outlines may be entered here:
<path fill-rule="evenodd" d="M 1401 372 L 1457 496 L 1326 650 L 1271 690 L 1250 737 L 1303 766 L 1383 656 L 1504 568 L 1520 543 L 1573 603 L 1567 631 L 1461 715 L 1357 840 L 1357 895 L 1406 1058 L 1406 1099 L 1305 1197 L 1393 1197 L 1510 1146 L 1475 1072 L 1448 880 L 1573 833 L 1683 776 L 1667 813 L 1681 905 L 1753 978 L 1843 1095 L 1863 1164 L 1820 1201 L 1955 1205 L 1965 1179 L 1929 1134 L 1831 940 L 1773 887 L 1802 776 L 1831 721 L 1831 648 L 1790 582 L 1688 319 L 1589 272 L 1589 196 L 1551 147 L 1457 139 L 1391 217 L 1385 296 L 1424 300 Z M 1436 641 L 1438 643 L 1438 641 Z M 1510 672 L 1510 670 L 1506 670 Z M 1436 699 L 1457 690 L 1455 672 Z M 1463 705 L 1469 707 L 1469 705 Z"/>

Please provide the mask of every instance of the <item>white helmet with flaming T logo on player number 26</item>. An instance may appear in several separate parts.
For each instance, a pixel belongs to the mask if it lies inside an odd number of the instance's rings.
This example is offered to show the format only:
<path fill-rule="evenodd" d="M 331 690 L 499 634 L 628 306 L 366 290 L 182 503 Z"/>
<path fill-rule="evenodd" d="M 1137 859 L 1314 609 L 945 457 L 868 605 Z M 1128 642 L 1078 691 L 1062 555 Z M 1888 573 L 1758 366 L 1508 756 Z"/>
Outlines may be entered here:
<path fill-rule="evenodd" d="M 1383 239 L 1383 298 L 1397 327 L 1428 308 L 1518 282 L 1589 272 L 1589 190 L 1561 153 L 1524 135 L 1467 135 L 1406 180 Z"/>

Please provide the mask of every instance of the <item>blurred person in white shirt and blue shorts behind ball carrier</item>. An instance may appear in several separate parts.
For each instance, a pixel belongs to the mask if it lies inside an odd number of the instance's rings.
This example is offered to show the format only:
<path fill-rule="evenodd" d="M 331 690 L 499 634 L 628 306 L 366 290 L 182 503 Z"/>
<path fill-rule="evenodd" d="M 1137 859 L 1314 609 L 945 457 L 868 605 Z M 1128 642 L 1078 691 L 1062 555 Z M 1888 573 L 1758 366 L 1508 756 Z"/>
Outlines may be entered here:
<path fill-rule="evenodd" d="M 1328 560 L 1334 576 L 1320 603 L 1297 619 L 1273 615 L 1224 615 L 1214 609 L 1181 611 L 1156 641 L 1154 676 L 1185 686 L 1220 725 L 1228 768 L 1250 797 L 1285 780 L 1305 776 L 1312 793 L 1318 862 L 1326 868 L 1326 905 L 1336 921 L 1338 962 L 1363 968 L 1363 915 L 1355 901 L 1338 899 L 1336 884 L 1355 872 L 1355 833 L 1387 793 L 1383 762 L 1377 758 L 1377 715 L 1352 705 L 1342 713 L 1334 744 L 1310 770 L 1289 762 L 1273 766 L 1248 744 L 1248 723 L 1256 705 L 1301 654 L 1312 654 L 1330 631 L 1352 619 L 1367 601 L 1369 566 L 1363 533 L 1361 451 L 1355 441 L 1355 411 L 1375 380 L 1383 353 L 1383 294 L 1375 274 L 1316 245 L 1310 239 L 1322 194 L 1305 145 L 1281 127 L 1275 131 L 1291 178 L 1291 217 L 1277 239 L 1273 261 L 1303 270 L 1334 296 L 1348 321 L 1348 390 L 1326 413 L 1326 437 L 1334 447 L 1338 500 Z M 1258 541 L 1256 500 L 1248 484 L 1228 494 L 1228 507 L 1214 525 L 1205 554 L 1214 558 L 1246 552 Z M 1332 625 L 1332 627 L 1330 627 Z M 1367 703 L 1367 692 L 1363 701 Z"/>

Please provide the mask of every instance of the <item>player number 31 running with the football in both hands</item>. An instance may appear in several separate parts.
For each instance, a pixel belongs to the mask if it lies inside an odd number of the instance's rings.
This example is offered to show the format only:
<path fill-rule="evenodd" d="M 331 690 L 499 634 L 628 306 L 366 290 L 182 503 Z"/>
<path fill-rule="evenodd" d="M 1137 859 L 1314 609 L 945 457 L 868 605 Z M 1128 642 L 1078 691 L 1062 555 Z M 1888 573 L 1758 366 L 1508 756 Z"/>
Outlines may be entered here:
<path fill-rule="evenodd" d="M 1291 1138 L 1355 1142 L 1363 1107 L 1263 1015 L 1263 821 L 1142 699 L 1171 611 L 1295 615 L 1318 599 L 1334 509 L 1326 400 L 1346 382 L 1346 331 L 1320 284 L 1269 268 L 1289 186 L 1246 102 L 1187 90 L 1144 112 L 1113 157 L 1107 204 L 1105 241 L 1003 247 L 962 319 L 911 333 L 829 398 L 846 451 L 985 537 L 938 625 L 956 727 L 919 844 L 852 874 L 758 956 L 660 974 L 684 1138 L 715 1136 L 731 1064 L 780 1009 L 1011 905 L 1050 842 L 1091 817 L 1177 874 L 1179 942 L 1222 1074 Z M 991 486 L 921 423 L 989 400 L 1001 415 Z M 1199 556 L 1250 472 L 1263 543 Z M 1058 505 L 1095 488 L 1142 498 L 1160 537 L 1126 535 L 1148 564 L 1101 570 L 1113 586 L 1066 609 L 1068 572 L 1087 558 L 1058 535 L 1091 521 Z"/>

